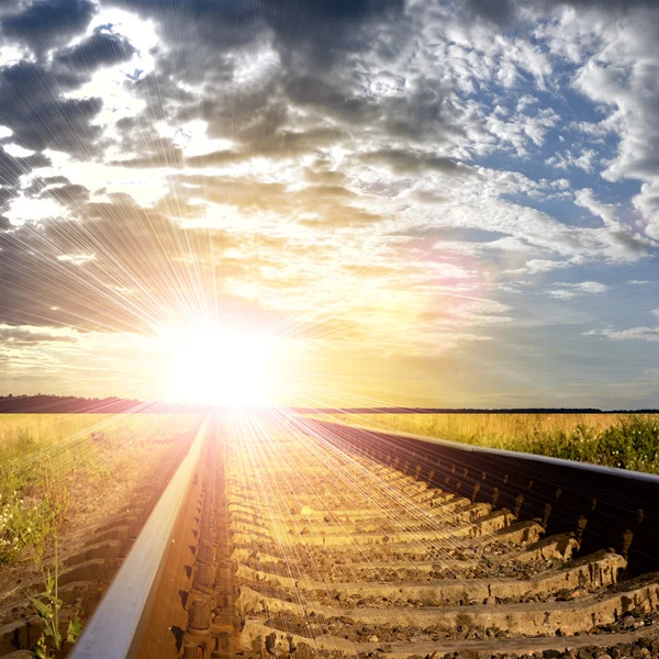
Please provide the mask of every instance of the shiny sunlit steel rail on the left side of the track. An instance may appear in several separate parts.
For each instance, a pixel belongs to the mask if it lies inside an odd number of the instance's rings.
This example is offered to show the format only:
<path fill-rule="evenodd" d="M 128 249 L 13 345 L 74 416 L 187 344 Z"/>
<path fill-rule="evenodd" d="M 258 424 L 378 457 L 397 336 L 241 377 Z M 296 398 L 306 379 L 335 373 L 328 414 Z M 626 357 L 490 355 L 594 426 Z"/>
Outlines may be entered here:
<path fill-rule="evenodd" d="M 209 427 L 197 436 L 108 588 L 69 659 L 125 659 L 138 647 L 172 529 L 192 483 Z"/>

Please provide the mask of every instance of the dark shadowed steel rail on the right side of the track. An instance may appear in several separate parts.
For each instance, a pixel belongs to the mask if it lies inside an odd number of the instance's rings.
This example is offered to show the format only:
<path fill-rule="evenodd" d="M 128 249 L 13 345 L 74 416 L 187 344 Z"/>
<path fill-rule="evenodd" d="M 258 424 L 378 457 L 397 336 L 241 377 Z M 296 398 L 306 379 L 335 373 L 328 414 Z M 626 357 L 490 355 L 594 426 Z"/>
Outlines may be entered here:
<path fill-rule="evenodd" d="M 659 476 L 317 418 L 297 425 L 339 450 L 538 520 L 547 535 L 572 530 L 582 554 L 613 547 L 630 574 L 659 565 Z"/>

